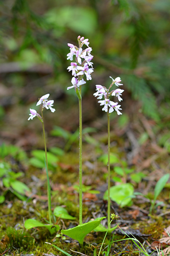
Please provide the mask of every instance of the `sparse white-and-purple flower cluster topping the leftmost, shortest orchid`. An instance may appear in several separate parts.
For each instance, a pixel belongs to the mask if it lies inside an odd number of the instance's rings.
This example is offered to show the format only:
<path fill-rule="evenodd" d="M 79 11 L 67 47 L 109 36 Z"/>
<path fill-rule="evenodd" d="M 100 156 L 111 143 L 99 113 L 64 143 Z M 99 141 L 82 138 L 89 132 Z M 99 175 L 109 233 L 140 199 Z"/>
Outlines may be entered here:
<path fill-rule="evenodd" d="M 47 100 L 48 97 L 49 97 L 49 93 L 46 94 L 46 95 L 44 95 L 44 96 L 42 96 L 42 97 L 39 99 L 39 101 L 37 102 L 37 105 L 36 105 L 36 106 L 39 106 L 41 103 L 43 103 L 43 105 L 42 105 L 42 110 L 43 110 L 44 108 L 46 108 L 46 109 L 50 109 L 50 110 L 54 113 L 55 109 L 52 108 L 52 107 L 53 107 L 54 100 Z M 28 120 L 30 120 L 30 119 L 32 120 L 33 117 L 36 117 L 36 116 L 37 116 L 38 119 L 42 122 L 41 116 L 37 113 L 37 111 L 36 111 L 35 109 L 31 109 L 31 108 L 30 108 L 30 113 L 31 113 L 31 114 L 29 114 L 30 117 L 28 118 Z"/>

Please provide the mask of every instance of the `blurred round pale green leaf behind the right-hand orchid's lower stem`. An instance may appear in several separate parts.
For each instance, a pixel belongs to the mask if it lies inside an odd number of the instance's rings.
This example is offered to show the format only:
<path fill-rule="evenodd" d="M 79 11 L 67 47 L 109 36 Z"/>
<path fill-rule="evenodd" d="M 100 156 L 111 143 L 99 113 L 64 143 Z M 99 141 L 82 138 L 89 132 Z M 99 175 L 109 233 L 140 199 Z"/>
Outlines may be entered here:
<path fill-rule="evenodd" d="M 113 186 L 110 189 L 110 197 L 112 201 L 116 202 L 121 207 L 128 205 L 131 202 L 133 193 L 134 188 L 130 183 Z M 108 190 L 105 191 L 103 199 L 108 199 Z"/>

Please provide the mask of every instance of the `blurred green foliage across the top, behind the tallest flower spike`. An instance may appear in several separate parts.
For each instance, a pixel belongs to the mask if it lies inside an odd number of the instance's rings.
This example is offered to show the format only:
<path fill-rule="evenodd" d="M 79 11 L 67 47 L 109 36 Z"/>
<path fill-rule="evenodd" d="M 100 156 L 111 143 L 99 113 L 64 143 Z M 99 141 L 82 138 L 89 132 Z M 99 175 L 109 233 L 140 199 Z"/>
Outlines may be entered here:
<path fill-rule="evenodd" d="M 6 0 L 0 7 L 1 63 L 46 63 L 60 79 L 67 43 L 80 34 L 93 49 L 96 83 L 120 76 L 142 111 L 160 118 L 157 98 L 169 100 L 170 91 L 169 0 Z M 63 78 L 64 88 L 70 80 Z"/>

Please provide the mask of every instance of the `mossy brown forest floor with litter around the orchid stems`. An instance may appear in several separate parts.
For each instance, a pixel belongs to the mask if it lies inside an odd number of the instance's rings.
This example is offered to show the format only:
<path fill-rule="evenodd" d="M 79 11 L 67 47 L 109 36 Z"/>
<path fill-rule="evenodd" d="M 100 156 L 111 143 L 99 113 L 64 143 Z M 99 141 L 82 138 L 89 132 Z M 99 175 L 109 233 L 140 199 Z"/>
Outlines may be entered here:
<path fill-rule="evenodd" d="M 41 123 L 36 118 L 27 121 L 29 108 L 36 106 L 38 99 L 32 94 L 32 87 L 19 90 L 1 85 L 0 89 L 4 95 L 1 103 L 5 109 L 1 119 L 1 163 L 7 163 L 15 174 L 21 172 L 22 175 L 15 178 L 30 189 L 24 195 L 26 199 L 22 201 L 16 196 L 15 189 L 4 186 L 1 177 L 0 191 L 5 196 L 5 201 L 0 205 L 0 255 L 64 255 L 45 242 L 52 243 L 71 255 L 94 255 L 97 248 L 98 255 L 105 233 L 92 231 L 85 237 L 83 246 L 80 246 L 70 237 L 64 240 L 57 237 L 56 233 L 51 235 L 43 227 L 29 230 L 24 228 L 24 221 L 29 218 L 48 220 L 46 171 L 31 162 L 33 150 L 44 150 Z M 56 218 L 55 224 L 60 225 L 61 229 L 67 229 L 77 226 L 79 219 L 79 140 L 78 136 L 72 136 L 79 126 L 78 102 L 76 97 L 71 101 L 64 93 L 56 92 L 54 87 L 47 89 L 56 108 L 55 113 L 46 111 L 44 114 L 47 148 L 53 153 L 56 147 L 62 149 L 60 153 L 56 153 L 57 162 L 52 161 L 49 165 L 52 211 L 56 206 L 63 206 L 75 217 L 75 220 Z M 40 96 L 48 93 L 44 93 L 43 89 L 38 90 Z M 170 226 L 170 181 L 157 197 L 152 212 L 150 207 L 156 183 L 164 174 L 169 173 L 167 127 L 170 116 L 164 114 L 166 103 L 159 106 L 158 111 L 162 118 L 157 122 L 143 115 L 140 108 L 139 102 L 133 101 L 126 92 L 122 103 L 123 115 L 116 116 L 114 113 L 111 117 L 111 185 L 131 183 L 135 192 L 130 203 L 124 207 L 112 201 L 111 211 L 120 217 L 115 221 L 118 226 L 124 228 L 123 230 L 130 230 L 146 248 L 148 255 L 156 250 L 155 246 L 160 246 L 167 253 L 165 255 L 168 255 L 170 238 L 165 228 L 169 230 Z M 62 127 L 63 134 L 58 133 L 55 126 Z M 107 201 L 103 199 L 107 189 L 107 115 L 101 111 L 97 99 L 88 93 L 83 97 L 83 129 L 85 223 L 107 216 Z M 22 154 L 19 151 L 16 154 L 15 150 L 14 152 L 8 148 L 5 154 L 4 145 L 21 148 Z M 107 227 L 106 220 L 101 223 Z M 114 241 L 127 238 L 119 228 L 113 233 Z M 112 239 L 113 233 L 107 235 L 101 253 L 107 251 L 109 237 Z M 61 234 L 60 230 L 57 234 Z M 138 247 L 132 241 L 124 240 L 113 243 L 109 255 L 142 255 L 137 251 Z M 151 255 L 158 255 L 157 252 L 154 253 Z"/>

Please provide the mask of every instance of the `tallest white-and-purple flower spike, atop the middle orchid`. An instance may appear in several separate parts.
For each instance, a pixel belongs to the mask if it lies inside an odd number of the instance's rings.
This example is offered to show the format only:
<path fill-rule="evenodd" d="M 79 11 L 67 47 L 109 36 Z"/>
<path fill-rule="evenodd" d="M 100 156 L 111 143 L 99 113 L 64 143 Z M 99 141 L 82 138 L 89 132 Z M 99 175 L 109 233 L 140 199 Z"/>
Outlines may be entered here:
<path fill-rule="evenodd" d="M 72 71 L 73 76 L 71 80 L 72 86 L 67 87 L 67 90 L 74 88 L 76 91 L 77 88 L 79 89 L 80 85 L 86 84 L 86 81 L 83 79 L 84 75 L 86 75 L 87 80 L 91 80 L 91 73 L 94 71 L 91 60 L 94 57 L 91 55 L 92 49 L 89 47 L 88 41 L 89 39 L 84 39 L 84 37 L 78 36 L 79 47 L 73 44 L 68 44 L 70 53 L 67 54 L 67 60 L 72 61 L 73 56 L 75 55 L 76 62 L 71 62 L 71 66 L 67 68 L 69 71 Z M 82 49 L 83 45 L 87 46 L 85 50 Z"/>

